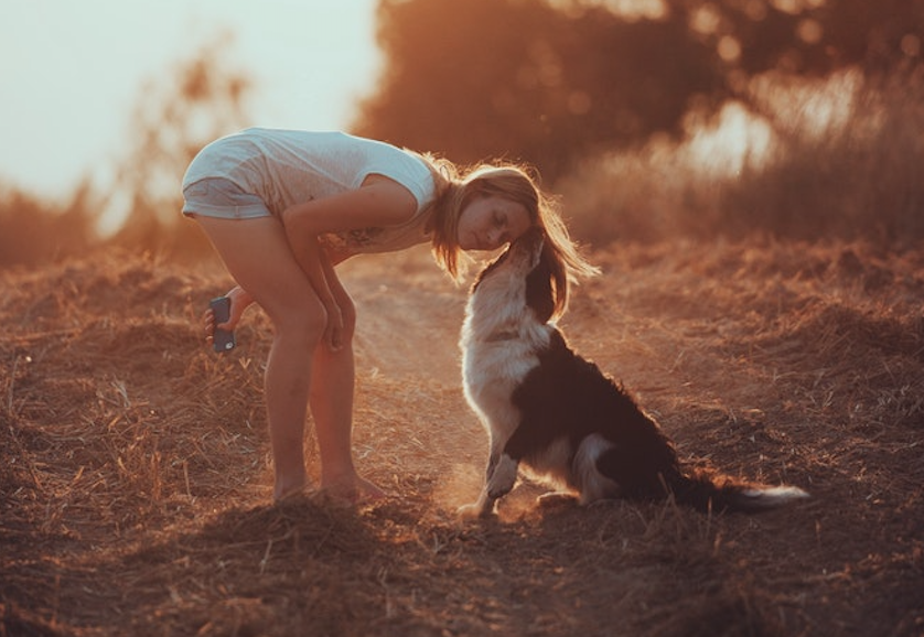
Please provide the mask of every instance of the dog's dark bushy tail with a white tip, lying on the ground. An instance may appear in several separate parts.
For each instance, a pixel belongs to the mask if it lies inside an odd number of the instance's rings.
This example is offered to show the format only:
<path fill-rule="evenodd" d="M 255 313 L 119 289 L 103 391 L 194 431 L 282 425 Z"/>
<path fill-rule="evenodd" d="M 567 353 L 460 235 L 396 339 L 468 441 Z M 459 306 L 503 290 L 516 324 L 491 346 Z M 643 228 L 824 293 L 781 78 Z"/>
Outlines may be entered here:
<path fill-rule="evenodd" d="M 668 489 L 677 503 L 700 511 L 760 512 L 808 497 L 808 493 L 792 486 L 767 486 L 742 483 L 728 476 L 707 472 L 678 474 Z"/>

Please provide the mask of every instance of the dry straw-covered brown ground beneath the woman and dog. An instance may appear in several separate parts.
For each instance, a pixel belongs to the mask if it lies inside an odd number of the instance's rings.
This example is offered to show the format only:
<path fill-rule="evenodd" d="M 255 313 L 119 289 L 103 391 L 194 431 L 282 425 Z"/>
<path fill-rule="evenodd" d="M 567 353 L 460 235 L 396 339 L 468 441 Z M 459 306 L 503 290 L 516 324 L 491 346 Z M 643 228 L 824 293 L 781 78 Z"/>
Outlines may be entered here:
<path fill-rule="evenodd" d="M 709 517 L 523 485 L 456 521 L 486 436 L 459 387 L 464 290 L 421 250 L 343 270 L 356 453 L 394 497 L 273 507 L 266 320 L 218 357 L 196 318 L 218 269 L 101 255 L 0 283 L 0 636 L 924 634 L 924 255 L 594 259 L 572 345 L 685 458 L 810 500 Z"/>

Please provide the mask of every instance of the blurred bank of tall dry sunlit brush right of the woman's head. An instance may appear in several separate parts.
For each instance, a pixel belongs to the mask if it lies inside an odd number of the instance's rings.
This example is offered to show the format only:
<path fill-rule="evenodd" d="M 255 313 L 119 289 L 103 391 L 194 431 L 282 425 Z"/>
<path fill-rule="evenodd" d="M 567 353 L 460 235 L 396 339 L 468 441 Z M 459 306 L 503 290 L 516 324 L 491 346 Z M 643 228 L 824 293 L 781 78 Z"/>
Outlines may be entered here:
<path fill-rule="evenodd" d="M 924 238 L 924 139 L 914 133 L 924 130 L 924 73 L 848 73 L 782 95 L 745 127 L 727 107 L 712 130 L 724 150 L 700 132 L 585 162 L 558 185 L 576 236 L 605 245 L 761 234 L 899 248 Z"/>

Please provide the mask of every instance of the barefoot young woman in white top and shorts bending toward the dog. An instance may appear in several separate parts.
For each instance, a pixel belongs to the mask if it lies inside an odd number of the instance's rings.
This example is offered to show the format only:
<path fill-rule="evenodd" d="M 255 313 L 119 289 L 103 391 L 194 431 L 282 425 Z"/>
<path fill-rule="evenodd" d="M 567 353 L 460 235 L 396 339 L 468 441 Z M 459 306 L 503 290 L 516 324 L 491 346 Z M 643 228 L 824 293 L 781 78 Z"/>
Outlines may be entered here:
<path fill-rule="evenodd" d="M 363 252 L 429 241 L 459 281 L 462 250 L 494 250 L 531 226 L 558 256 L 556 288 L 594 269 L 577 252 L 550 201 L 520 168 L 460 174 L 444 160 L 341 132 L 248 129 L 205 147 L 183 179 L 183 214 L 221 256 L 235 287 L 230 318 L 257 303 L 273 325 L 266 366 L 276 499 L 307 486 L 303 435 L 310 406 L 321 488 L 337 498 L 379 497 L 351 449 L 355 309 L 334 266 Z M 207 337 L 216 327 L 206 311 Z"/>

